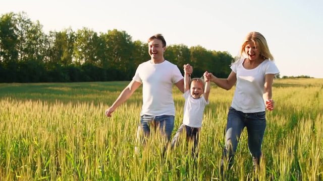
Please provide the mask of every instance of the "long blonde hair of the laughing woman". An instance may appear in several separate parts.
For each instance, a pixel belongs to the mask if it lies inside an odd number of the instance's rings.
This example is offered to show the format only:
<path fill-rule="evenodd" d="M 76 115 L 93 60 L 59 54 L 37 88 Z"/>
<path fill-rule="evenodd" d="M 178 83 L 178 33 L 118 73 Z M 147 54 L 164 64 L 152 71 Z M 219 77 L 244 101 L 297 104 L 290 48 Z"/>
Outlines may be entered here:
<path fill-rule="evenodd" d="M 247 36 L 245 37 L 245 39 L 241 45 L 241 49 L 239 52 L 240 56 L 238 56 L 238 59 L 240 59 L 243 54 L 247 54 L 245 52 L 245 47 L 247 45 L 247 42 L 249 42 L 249 41 L 254 43 L 254 45 L 256 46 L 256 49 L 259 50 L 260 56 L 263 59 L 269 59 L 270 61 L 274 61 L 274 57 L 269 50 L 266 39 L 259 32 L 250 32 L 247 34 Z"/>

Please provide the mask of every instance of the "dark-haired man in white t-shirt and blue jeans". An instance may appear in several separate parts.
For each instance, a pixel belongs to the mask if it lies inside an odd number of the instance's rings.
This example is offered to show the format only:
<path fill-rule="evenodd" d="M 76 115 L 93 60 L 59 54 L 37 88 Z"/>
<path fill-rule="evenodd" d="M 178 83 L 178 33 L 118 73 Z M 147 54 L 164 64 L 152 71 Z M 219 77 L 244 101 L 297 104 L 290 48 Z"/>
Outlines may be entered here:
<path fill-rule="evenodd" d="M 178 67 L 165 60 L 166 41 L 161 34 L 148 39 L 150 60 L 141 63 L 129 85 L 122 91 L 113 105 L 105 111 L 111 114 L 142 86 L 143 105 L 140 113 L 140 128 L 143 135 L 150 135 L 150 126 L 159 128 L 160 134 L 169 141 L 174 129 L 175 105 L 172 87 L 175 84 L 184 93 L 184 77 Z M 192 73 L 193 67 L 187 66 L 186 71 Z M 139 129 L 140 129 L 139 128 Z"/>

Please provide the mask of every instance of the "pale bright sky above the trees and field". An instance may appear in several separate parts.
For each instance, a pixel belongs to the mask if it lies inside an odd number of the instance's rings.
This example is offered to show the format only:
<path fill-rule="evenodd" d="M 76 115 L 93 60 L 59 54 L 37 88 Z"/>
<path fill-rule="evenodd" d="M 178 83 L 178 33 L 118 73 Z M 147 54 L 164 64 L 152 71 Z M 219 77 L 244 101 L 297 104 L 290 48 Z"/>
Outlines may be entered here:
<path fill-rule="evenodd" d="M 117 29 L 142 42 L 161 33 L 168 45 L 200 45 L 233 57 L 256 31 L 267 40 L 281 76 L 315 78 L 323 78 L 322 9 L 321 0 L 0 0 L 1 15 L 25 12 L 45 33 Z"/>

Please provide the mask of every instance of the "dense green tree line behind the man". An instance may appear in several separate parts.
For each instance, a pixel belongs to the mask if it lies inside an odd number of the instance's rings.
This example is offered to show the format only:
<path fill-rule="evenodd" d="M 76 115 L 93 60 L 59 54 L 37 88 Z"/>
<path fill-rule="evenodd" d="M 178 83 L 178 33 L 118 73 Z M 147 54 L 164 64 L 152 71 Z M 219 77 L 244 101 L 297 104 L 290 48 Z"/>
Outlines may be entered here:
<path fill-rule="evenodd" d="M 205 70 L 227 77 L 233 61 L 228 52 L 183 44 L 167 46 L 164 57 L 182 73 L 183 64 L 190 63 L 192 77 Z M 0 82 L 131 80 L 137 66 L 149 59 L 148 44 L 133 41 L 125 31 L 68 28 L 46 34 L 24 12 L 0 17 Z"/>

